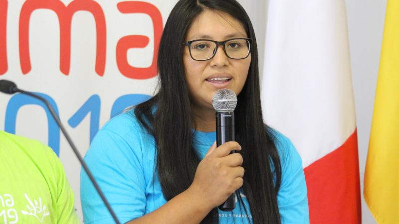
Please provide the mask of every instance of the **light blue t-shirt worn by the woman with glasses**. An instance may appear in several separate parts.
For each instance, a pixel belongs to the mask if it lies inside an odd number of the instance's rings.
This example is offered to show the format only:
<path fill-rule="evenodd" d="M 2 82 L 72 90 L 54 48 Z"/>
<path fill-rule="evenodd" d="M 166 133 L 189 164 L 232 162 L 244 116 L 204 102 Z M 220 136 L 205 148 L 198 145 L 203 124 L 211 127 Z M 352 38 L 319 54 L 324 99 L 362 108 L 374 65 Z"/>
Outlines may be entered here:
<path fill-rule="evenodd" d="M 215 141 L 215 132 L 194 132 L 195 147 L 203 158 Z M 282 224 L 309 223 L 308 199 L 302 160 L 291 141 L 276 132 L 282 179 L 277 201 Z M 245 150 L 245 149 L 242 149 Z M 157 210 L 166 203 L 155 169 L 155 141 L 132 111 L 108 121 L 93 139 L 84 160 L 121 223 Z M 155 178 L 153 181 L 153 176 Z M 80 174 L 80 197 L 85 224 L 113 224 L 86 173 Z M 232 212 L 219 210 L 220 224 L 252 222 L 248 202 L 236 203 Z"/>

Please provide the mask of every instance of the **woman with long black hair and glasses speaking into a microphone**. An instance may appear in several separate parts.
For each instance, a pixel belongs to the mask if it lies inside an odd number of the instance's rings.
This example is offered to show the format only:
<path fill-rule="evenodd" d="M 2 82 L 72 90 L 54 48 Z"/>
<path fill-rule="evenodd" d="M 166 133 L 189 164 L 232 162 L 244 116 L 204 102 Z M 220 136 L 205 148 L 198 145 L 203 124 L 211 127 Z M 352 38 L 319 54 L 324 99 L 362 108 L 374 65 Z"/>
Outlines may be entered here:
<path fill-rule="evenodd" d="M 158 68 L 159 93 L 111 119 L 85 157 L 120 221 L 308 223 L 301 158 L 263 124 L 255 34 L 239 3 L 180 0 Z M 216 148 L 211 98 L 221 88 L 237 95 L 236 142 Z M 236 208 L 217 210 L 236 190 Z M 84 173 L 81 201 L 85 223 L 113 223 Z"/>

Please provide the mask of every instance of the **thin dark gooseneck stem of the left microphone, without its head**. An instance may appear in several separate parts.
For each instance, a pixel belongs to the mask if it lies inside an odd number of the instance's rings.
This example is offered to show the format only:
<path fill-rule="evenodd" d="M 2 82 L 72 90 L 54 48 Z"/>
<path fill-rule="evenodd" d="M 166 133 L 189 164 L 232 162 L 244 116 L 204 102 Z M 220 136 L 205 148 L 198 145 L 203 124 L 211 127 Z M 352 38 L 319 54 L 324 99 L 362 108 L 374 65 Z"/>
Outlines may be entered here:
<path fill-rule="evenodd" d="M 38 96 L 36 94 L 33 94 L 31 92 L 20 90 L 20 89 L 18 89 L 16 87 L 13 87 L 13 92 L 14 93 L 19 92 L 21 94 L 25 94 L 25 95 L 31 96 L 33 98 L 36 98 L 36 99 L 40 100 L 41 102 L 43 102 L 46 105 L 46 107 L 50 111 L 51 115 L 53 116 L 53 118 L 57 122 L 59 128 L 61 129 L 61 132 L 64 134 L 66 140 L 68 141 L 69 145 L 71 146 L 71 148 L 72 148 L 73 152 L 75 153 L 76 157 L 78 158 L 78 160 L 79 160 L 80 164 L 82 165 L 84 171 L 86 172 L 86 174 L 89 177 L 90 181 L 94 185 L 94 188 L 96 189 L 97 193 L 100 195 L 101 200 L 104 202 L 105 206 L 107 207 L 107 209 L 108 209 L 109 213 L 111 214 L 113 220 L 115 221 L 116 224 L 120 224 L 118 218 L 116 217 L 116 215 L 115 215 L 114 211 L 112 210 L 110 204 L 108 203 L 107 199 L 105 198 L 103 192 L 100 190 L 100 187 L 98 186 L 97 182 L 94 180 L 93 174 L 90 172 L 89 167 L 83 161 L 82 156 L 80 155 L 79 151 L 76 149 L 75 144 L 72 142 L 72 139 L 69 137 L 68 133 L 66 132 L 66 130 L 65 130 L 64 126 L 62 125 L 60 119 L 58 118 L 57 114 L 54 112 L 53 107 L 47 102 L 46 99 L 44 99 L 41 96 Z"/>

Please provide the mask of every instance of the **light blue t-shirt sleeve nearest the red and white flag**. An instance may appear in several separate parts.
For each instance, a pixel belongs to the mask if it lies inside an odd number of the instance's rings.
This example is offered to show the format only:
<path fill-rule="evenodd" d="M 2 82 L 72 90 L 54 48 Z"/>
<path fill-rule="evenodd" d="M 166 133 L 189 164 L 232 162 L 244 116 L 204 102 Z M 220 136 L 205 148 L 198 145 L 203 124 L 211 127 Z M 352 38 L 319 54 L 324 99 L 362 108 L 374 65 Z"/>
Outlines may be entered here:
<path fill-rule="evenodd" d="M 302 159 L 289 139 L 280 145 L 281 185 L 277 195 L 281 224 L 308 224 L 309 207 Z"/>

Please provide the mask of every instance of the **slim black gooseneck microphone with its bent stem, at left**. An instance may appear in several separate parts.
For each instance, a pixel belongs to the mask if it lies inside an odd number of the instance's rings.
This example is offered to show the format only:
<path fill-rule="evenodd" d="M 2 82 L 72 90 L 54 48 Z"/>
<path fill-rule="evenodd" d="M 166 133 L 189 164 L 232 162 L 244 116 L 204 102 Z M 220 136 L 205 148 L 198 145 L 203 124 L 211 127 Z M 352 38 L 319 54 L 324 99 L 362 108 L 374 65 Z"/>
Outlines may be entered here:
<path fill-rule="evenodd" d="M 91 183 L 94 185 L 94 188 L 96 189 L 97 193 L 100 195 L 102 201 L 104 202 L 105 206 L 107 207 L 109 213 L 111 214 L 112 218 L 114 219 L 116 224 L 120 224 L 118 218 L 116 217 L 114 211 L 111 209 L 111 206 L 109 205 L 107 199 L 105 198 L 103 192 L 100 190 L 100 187 L 98 186 L 97 182 L 94 180 L 94 177 L 92 173 L 90 172 L 89 168 L 87 167 L 86 163 L 83 161 L 82 156 L 76 149 L 75 144 L 72 142 L 72 139 L 69 137 L 68 133 L 66 132 L 64 126 L 62 125 L 60 119 L 58 118 L 57 114 L 54 112 L 53 107 L 51 107 L 50 103 L 48 101 L 34 93 L 27 92 L 24 90 L 20 90 L 16 87 L 15 83 L 8 81 L 8 80 L 0 80 L 0 92 L 5 93 L 5 94 L 14 94 L 14 93 L 21 93 L 25 94 L 28 96 L 31 96 L 33 98 L 36 98 L 40 101 L 42 101 L 48 110 L 50 111 L 51 115 L 57 122 L 59 128 L 61 129 L 62 133 L 64 134 L 66 140 L 68 141 L 69 145 L 71 146 L 73 152 L 75 153 L 76 157 L 78 158 L 80 164 L 82 165 L 84 171 L 86 172 L 87 176 L 89 177 Z"/>

